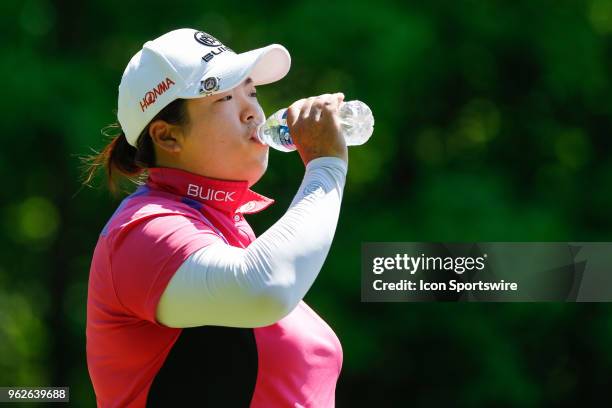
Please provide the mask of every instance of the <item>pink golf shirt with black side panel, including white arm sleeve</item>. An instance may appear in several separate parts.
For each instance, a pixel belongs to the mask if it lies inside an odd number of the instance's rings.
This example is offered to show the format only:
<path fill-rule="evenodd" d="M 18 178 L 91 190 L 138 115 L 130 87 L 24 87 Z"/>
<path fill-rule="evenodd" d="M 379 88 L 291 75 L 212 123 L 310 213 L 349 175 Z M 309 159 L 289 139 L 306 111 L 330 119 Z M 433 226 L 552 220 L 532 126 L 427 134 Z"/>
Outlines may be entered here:
<path fill-rule="evenodd" d="M 337 158 L 309 162 L 287 212 L 255 239 L 243 215 L 273 200 L 247 182 L 150 169 L 92 259 L 98 406 L 333 407 L 342 347 L 302 298 L 331 246 L 346 171 Z"/>

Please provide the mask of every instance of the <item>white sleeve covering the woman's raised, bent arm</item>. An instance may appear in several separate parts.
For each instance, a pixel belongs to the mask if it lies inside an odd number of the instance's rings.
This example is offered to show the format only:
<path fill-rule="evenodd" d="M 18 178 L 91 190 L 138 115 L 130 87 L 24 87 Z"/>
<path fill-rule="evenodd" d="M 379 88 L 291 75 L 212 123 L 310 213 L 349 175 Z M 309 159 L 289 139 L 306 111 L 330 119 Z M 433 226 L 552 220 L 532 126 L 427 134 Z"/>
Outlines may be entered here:
<path fill-rule="evenodd" d="M 261 327 L 287 315 L 327 257 L 346 172 L 336 157 L 310 161 L 287 212 L 247 248 L 212 244 L 178 268 L 157 320 L 169 327 Z"/>

